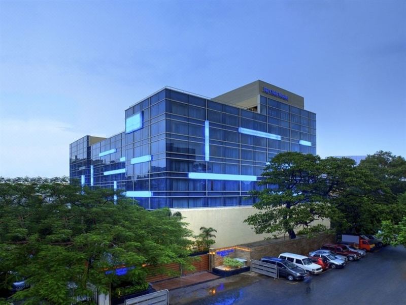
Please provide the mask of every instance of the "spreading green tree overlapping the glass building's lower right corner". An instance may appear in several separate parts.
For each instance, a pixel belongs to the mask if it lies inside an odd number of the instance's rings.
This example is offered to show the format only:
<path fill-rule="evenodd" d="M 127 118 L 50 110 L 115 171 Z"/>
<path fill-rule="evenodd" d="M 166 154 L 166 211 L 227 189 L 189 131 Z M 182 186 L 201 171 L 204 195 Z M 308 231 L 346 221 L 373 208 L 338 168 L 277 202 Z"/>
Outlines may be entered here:
<path fill-rule="evenodd" d="M 294 229 L 308 228 L 316 219 L 338 219 L 330 201 L 347 189 L 355 163 L 346 158 L 327 158 L 287 152 L 275 156 L 265 167 L 259 185 L 252 191 L 259 210 L 245 222 L 255 232 L 287 232 L 295 238 Z"/>

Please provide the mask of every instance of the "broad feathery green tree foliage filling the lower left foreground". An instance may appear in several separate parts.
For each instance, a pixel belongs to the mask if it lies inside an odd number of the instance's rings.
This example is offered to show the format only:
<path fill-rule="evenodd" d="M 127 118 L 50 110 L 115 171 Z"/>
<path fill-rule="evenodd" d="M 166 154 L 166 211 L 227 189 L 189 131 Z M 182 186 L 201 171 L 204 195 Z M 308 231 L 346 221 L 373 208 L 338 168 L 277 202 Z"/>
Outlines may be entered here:
<path fill-rule="evenodd" d="M 120 282 L 145 288 L 146 264 L 189 265 L 191 232 L 168 209 L 147 211 L 112 190 L 90 190 L 67 178 L 0 178 L 0 285 L 13 273 L 30 287 L 14 295 L 27 304 L 71 304 Z M 115 268 L 130 267 L 117 276 Z M 133 267 L 133 268 L 132 268 Z M 107 273 L 106 273 L 107 271 Z M 74 284 L 72 284 L 74 283 Z"/>

